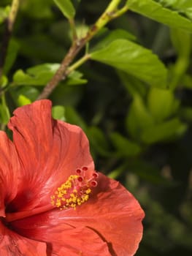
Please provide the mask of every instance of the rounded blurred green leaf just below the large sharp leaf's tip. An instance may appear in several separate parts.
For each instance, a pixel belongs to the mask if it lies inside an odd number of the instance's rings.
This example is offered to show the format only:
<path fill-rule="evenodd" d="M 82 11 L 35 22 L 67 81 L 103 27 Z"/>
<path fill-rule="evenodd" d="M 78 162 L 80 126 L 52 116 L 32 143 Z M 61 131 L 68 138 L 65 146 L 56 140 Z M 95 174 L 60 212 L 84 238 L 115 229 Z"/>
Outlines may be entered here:
<path fill-rule="evenodd" d="M 170 90 L 153 88 L 147 97 L 147 107 L 156 122 L 161 122 L 175 113 L 180 102 Z"/>

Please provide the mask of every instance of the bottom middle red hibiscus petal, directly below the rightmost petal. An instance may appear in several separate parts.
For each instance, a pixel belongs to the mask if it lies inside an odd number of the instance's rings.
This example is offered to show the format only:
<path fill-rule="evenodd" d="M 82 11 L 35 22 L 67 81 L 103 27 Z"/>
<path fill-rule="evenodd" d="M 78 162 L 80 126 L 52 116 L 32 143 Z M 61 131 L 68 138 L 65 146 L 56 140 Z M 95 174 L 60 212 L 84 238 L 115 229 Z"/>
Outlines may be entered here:
<path fill-rule="evenodd" d="M 11 225 L 23 236 L 45 241 L 48 244 L 48 255 L 111 256 L 107 243 L 94 230 L 58 224 L 56 220 L 55 225 L 50 225 L 48 219 L 45 213 L 20 219 Z"/>

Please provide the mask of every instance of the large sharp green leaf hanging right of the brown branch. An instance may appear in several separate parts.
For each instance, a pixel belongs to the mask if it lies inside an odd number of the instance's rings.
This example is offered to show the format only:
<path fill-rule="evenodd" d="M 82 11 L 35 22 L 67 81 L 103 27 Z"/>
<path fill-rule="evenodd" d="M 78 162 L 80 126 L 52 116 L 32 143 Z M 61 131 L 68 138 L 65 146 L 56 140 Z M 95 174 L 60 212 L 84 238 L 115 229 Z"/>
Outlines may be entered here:
<path fill-rule="evenodd" d="M 123 70 L 150 85 L 166 87 L 164 64 L 150 50 L 126 39 L 117 39 L 91 53 L 91 59 Z"/>

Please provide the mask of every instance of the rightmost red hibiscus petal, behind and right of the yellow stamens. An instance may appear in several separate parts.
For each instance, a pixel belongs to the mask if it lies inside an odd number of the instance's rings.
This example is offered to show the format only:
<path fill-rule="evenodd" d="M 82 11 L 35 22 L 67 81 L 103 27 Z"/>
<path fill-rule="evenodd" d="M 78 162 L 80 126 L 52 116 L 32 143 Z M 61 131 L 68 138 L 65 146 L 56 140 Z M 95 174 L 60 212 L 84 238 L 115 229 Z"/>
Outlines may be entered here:
<path fill-rule="evenodd" d="M 122 185 L 101 173 L 99 177 L 98 194 L 76 211 L 58 212 L 58 223 L 63 220 L 74 227 L 90 227 L 107 241 L 112 255 L 132 256 L 142 239 L 145 214 L 134 196 Z"/>

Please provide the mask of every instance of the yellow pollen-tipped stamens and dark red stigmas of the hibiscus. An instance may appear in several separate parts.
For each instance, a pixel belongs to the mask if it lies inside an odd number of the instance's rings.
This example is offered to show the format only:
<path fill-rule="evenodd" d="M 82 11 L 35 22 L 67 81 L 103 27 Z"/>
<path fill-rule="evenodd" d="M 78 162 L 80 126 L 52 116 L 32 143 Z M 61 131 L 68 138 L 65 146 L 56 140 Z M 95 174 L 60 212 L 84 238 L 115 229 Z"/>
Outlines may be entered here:
<path fill-rule="evenodd" d="M 55 191 L 51 196 L 51 203 L 58 208 L 74 208 L 85 203 L 90 195 L 93 187 L 97 186 L 96 179 L 99 174 L 92 172 L 89 178 L 87 174 L 88 167 L 78 168 L 74 175 L 69 176 L 64 184 Z"/>

